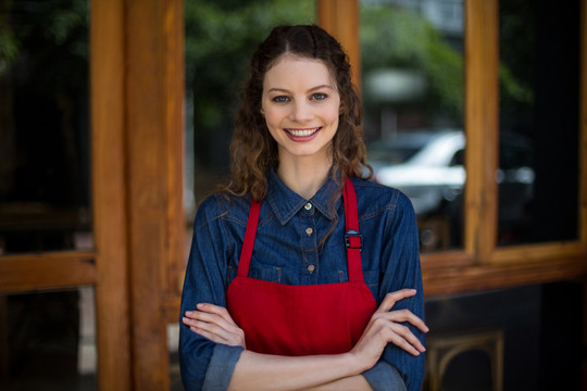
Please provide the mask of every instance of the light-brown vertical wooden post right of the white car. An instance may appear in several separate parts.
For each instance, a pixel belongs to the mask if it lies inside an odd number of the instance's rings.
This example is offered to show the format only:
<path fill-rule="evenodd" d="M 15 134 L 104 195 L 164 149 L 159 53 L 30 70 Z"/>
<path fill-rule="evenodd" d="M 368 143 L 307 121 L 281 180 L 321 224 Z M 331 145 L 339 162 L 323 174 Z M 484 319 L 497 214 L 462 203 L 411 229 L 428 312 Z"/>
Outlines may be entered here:
<path fill-rule="evenodd" d="M 487 263 L 496 247 L 498 0 L 465 3 L 465 251 Z"/>

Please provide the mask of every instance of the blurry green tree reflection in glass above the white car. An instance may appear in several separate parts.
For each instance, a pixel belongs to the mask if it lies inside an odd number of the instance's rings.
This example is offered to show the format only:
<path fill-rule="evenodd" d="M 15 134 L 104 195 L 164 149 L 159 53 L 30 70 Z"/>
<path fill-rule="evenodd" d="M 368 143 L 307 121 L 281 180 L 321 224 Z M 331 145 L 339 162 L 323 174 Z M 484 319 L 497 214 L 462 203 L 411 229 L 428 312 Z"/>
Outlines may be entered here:
<path fill-rule="evenodd" d="M 362 8 L 361 49 L 364 74 L 380 68 L 417 71 L 428 88 L 413 104 L 426 110 L 429 117 L 462 122 L 462 54 L 424 16 L 398 8 Z M 365 106 L 376 103 L 369 99 L 366 94 Z"/>

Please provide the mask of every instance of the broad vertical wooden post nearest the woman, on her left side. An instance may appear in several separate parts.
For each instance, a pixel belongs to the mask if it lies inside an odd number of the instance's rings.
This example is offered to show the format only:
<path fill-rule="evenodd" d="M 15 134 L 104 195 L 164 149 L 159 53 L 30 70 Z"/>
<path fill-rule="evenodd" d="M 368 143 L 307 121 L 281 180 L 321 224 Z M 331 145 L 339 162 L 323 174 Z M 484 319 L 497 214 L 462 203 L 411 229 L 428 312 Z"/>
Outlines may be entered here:
<path fill-rule="evenodd" d="M 166 390 L 164 300 L 166 292 L 177 292 L 173 270 L 183 265 L 184 248 L 183 1 L 127 0 L 126 5 L 133 379 L 136 389 Z"/>

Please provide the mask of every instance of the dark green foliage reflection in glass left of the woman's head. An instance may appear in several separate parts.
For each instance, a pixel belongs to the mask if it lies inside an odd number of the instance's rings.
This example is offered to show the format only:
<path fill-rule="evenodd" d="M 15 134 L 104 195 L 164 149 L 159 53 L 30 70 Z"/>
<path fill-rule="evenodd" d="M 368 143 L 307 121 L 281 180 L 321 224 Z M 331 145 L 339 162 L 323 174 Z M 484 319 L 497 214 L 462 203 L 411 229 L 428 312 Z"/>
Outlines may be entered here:
<path fill-rule="evenodd" d="M 186 0 L 186 83 L 197 163 L 228 162 L 236 98 L 254 48 L 277 24 L 314 23 L 314 1 Z"/>

